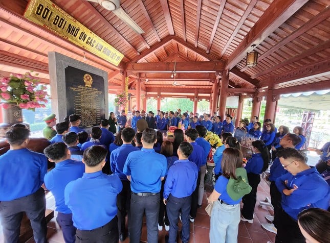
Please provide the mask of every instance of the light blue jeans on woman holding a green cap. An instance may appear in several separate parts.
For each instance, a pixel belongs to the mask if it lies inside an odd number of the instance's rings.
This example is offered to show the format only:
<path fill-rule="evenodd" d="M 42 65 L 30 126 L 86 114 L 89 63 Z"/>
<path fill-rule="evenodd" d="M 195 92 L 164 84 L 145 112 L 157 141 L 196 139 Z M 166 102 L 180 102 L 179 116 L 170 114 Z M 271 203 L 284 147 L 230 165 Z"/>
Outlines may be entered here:
<path fill-rule="evenodd" d="M 237 243 L 240 221 L 239 204 L 215 201 L 211 213 L 210 243 Z"/>

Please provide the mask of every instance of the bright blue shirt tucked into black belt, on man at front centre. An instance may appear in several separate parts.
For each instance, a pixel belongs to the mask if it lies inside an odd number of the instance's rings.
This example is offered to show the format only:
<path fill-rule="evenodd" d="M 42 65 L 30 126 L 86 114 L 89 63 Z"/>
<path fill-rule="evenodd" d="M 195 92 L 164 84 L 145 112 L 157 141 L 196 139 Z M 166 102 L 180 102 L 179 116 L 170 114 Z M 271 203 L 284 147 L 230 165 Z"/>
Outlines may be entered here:
<path fill-rule="evenodd" d="M 167 174 L 166 157 L 153 149 L 133 151 L 127 156 L 123 173 L 131 176 L 131 191 L 158 193 L 161 190 L 161 177 Z"/>

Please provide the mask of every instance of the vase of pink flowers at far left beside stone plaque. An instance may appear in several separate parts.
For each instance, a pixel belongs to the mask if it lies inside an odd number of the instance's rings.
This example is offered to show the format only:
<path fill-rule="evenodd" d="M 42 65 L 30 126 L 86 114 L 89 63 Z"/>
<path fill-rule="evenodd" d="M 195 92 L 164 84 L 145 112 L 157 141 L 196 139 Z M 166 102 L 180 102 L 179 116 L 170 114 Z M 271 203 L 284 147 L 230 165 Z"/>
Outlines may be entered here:
<path fill-rule="evenodd" d="M 49 98 L 47 87 L 40 84 L 35 77 L 37 75 L 26 72 L 25 75 L 11 74 L 0 79 L 0 106 L 4 118 L 4 123 L 0 125 L 0 137 L 12 124 L 23 122 L 21 109 L 34 111 L 35 108 L 46 107 L 46 98 Z"/>

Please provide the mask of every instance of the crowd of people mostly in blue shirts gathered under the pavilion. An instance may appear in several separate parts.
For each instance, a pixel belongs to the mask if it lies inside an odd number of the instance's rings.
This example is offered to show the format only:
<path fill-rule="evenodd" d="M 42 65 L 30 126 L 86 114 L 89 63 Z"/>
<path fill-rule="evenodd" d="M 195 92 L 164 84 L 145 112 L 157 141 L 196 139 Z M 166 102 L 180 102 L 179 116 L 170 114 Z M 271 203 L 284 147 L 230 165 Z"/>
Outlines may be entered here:
<path fill-rule="evenodd" d="M 129 242 L 140 242 L 143 216 L 148 242 L 158 242 L 158 233 L 164 228 L 166 242 L 177 242 L 177 237 L 188 242 L 189 222 L 195 221 L 205 195 L 211 150 L 204 139 L 207 131 L 223 142 L 213 156 L 215 184 L 207 198 L 213 205 L 211 243 L 237 242 L 239 222 L 253 224 L 260 175 L 270 164 L 274 216 L 268 215 L 272 223 L 262 227 L 276 233 L 276 242 L 318 240 L 322 231 L 311 229 L 309 221 L 324 220 L 316 212 L 329 207 L 330 142 L 318 151 L 318 166 L 311 168 L 300 151 L 305 141 L 301 127 L 290 133 L 285 126 L 277 130 L 266 119 L 261 131 L 258 117 L 253 116 L 250 123 L 240 119 L 235 129 L 230 115 L 222 121 L 216 113 L 181 114 L 181 109 L 158 110 L 156 116 L 152 111 L 146 115 L 144 110 L 133 114 L 127 119 L 124 110 L 117 117 L 111 112 L 90 134 L 79 127 L 79 115 L 56 123 L 52 114 L 44 119 L 43 135 L 50 140 L 44 155 L 28 150 L 28 128 L 14 125 L 6 133 L 10 150 L 0 156 L 0 218 L 5 242 L 18 241 L 24 211 L 35 241 L 47 242 L 43 183 L 54 195 L 65 242 L 118 242 L 126 237 Z M 163 141 L 162 131 L 170 126 L 178 127 L 173 141 Z M 254 138 L 253 155 L 244 163 L 240 141 L 246 136 Z M 48 160 L 55 166 L 47 172 Z M 329 219 L 328 213 L 324 215 Z"/>

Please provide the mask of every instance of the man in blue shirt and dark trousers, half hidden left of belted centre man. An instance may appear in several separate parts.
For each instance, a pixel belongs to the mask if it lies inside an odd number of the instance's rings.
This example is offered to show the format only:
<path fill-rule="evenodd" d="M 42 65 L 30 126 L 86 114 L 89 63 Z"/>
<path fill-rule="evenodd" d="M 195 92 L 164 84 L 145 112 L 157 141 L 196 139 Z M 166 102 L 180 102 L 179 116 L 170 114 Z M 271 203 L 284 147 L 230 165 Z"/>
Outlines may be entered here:
<path fill-rule="evenodd" d="M 130 218 L 130 181 L 127 179 L 126 175 L 123 173 L 124 165 L 126 158 L 130 152 L 140 150 L 137 147 L 133 147 L 131 142 L 135 137 L 135 131 L 133 128 L 124 128 L 121 131 L 121 139 L 123 140 L 123 144 L 115 149 L 110 156 L 110 164 L 111 171 L 119 177 L 121 182 L 123 183 L 123 189 L 118 194 L 117 197 L 117 207 L 118 207 L 118 228 L 119 228 L 119 239 L 120 241 L 124 241 L 126 238 L 125 232 L 125 216 L 126 211 L 128 212 L 128 228 L 129 228 L 129 218 Z M 128 205 L 128 207 L 126 207 Z"/>

